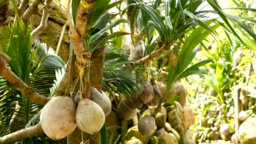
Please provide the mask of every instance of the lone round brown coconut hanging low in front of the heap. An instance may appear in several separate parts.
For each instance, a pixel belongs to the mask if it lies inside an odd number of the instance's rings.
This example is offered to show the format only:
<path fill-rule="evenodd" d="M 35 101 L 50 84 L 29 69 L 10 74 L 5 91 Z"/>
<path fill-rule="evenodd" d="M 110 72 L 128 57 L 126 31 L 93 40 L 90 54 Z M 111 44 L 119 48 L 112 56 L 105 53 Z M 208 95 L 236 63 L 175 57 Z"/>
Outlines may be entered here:
<path fill-rule="evenodd" d="M 151 135 L 155 131 L 155 118 L 151 115 L 144 116 L 138 122 L 138 130 L 142 135 Z"/>

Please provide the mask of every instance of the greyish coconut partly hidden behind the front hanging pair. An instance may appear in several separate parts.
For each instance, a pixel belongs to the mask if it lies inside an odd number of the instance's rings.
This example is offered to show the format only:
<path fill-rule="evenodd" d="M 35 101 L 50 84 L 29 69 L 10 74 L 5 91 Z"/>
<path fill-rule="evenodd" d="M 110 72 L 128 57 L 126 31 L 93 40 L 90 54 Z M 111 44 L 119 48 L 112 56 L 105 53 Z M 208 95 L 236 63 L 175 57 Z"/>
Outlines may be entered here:
<path fill-rule="evenodd" d="M 101 90 L 98 91 L 97 88 L 92 88 L 90 99 L 101 106 L 105 117 L 107 117 L 111 112 L 111 101 L 106 93 L 100 91 Z"/>

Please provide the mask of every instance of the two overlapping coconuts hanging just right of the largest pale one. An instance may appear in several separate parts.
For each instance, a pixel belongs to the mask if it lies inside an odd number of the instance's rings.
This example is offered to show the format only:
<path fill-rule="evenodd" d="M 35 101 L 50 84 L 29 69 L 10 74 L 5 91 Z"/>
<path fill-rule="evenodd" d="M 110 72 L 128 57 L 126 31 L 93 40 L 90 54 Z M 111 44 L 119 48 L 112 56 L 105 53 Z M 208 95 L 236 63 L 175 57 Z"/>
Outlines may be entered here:
<path fill-rule="evenodd" d="M 95 135 L 111 111 L 111 101 L 106 93 L 97 88 L 90 88 L 87 94 L 78 102 L 75 118 L 80 130 Z M 75 97 L 79 97 L 79 93 Z"/>

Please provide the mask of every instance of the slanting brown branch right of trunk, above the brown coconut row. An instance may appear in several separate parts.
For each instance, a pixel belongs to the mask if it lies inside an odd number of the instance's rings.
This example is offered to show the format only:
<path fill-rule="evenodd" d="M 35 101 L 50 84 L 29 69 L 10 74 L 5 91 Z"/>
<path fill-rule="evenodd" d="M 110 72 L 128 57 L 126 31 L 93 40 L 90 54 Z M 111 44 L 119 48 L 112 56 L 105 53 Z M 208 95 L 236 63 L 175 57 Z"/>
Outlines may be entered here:
<path fill-rule="evenodd" d="M 172 46 L 172 44 L 175 42 L 175 40 L 172 41 L 172 43 L 168 44 L 168 45 L 162 45 L 162 47 L 160 49 L 154 50 L 153 52 L 151 52 L 149 55 L 138 59 L 135 62 L 132 63 L 127 63 L 125 64 L 126 66 L 131 66 L 131 65 L 142 65 L 144 63 L 147 63 L 148 61 L 153 60 L 155 57 L 158 57 L 159 55 L 161 55 L 162 52 L 164 52 L 164 50 L 168 49 L 170 46 Z"/>

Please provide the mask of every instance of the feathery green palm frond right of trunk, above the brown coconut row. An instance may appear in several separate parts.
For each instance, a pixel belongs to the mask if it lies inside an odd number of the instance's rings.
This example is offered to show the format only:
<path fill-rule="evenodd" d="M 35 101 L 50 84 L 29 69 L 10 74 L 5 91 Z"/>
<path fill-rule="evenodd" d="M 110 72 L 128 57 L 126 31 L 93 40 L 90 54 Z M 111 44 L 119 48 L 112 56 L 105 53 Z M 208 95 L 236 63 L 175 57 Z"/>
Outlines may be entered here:
<path fill-rule="evenodd" d="M 114 45 L 110 45 L 106 50 L 103 89 L 116 92 L 122 97 L 131 97 L 139 89 L 137 85 L 139 81 L 133 73 L 136 67 L 123 67 L 129 56 Z"/>

